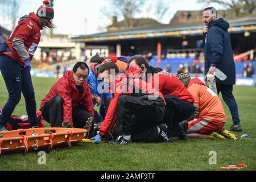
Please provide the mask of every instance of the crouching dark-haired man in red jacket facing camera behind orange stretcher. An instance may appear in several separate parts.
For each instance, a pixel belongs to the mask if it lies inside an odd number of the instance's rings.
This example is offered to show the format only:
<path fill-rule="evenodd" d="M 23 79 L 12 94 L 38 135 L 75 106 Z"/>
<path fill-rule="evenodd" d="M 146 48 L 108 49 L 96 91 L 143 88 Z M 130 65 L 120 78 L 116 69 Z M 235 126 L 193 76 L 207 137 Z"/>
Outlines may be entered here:
<path fill-rule="evenodd" d="M 92 94 L 86 82 L 88 75 L 88 65 L 76 63 L 73 71 L 65 72 L 42 100 L 40 111 L 52 127 L 85 128 L 88 121 L 93 125 Z"/>

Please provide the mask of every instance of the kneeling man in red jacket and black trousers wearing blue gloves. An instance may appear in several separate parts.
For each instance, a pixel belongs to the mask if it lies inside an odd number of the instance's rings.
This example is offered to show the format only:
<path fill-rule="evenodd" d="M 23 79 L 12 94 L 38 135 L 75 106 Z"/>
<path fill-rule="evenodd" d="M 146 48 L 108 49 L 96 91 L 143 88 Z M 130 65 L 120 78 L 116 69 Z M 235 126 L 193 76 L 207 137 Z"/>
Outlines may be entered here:
<path fill-rule="evenodd" d="M 110 86 L 114 98 L 93 143 L 100 143 L 114 128 L 119 135 L 113 144 L 129 142 L 167 142 L 160 123 L 164 117 L 163 94 L 143 81 L 141 73 L 130 67 L 126 73 L 110 73 L 111 64 L 106 63 L 99 70 L 99 77 Z"/>

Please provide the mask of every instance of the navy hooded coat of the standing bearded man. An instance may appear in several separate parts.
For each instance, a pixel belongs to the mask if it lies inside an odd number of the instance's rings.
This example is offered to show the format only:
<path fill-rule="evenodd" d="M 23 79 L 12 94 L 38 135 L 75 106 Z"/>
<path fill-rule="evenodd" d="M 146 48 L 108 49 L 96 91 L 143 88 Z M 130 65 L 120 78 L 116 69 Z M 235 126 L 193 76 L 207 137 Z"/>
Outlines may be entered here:
<path fill-rule="evenodd" d="M 220 18 L 212 22 L 205 36 L 205 75 L 211 65 L 215 65 L 227 76 L 220 81 L 224 85 L 236 84 L 236 67 L 228 32 L 229 23 Z"/>

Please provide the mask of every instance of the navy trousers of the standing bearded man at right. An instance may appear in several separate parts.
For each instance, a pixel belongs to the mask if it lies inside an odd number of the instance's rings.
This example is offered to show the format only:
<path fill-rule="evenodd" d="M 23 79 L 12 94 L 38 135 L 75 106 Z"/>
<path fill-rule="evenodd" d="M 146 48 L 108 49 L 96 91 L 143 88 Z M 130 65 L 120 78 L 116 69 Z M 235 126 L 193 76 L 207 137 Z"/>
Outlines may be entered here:
<path fill-rule="evenodd" d="M 221 92 L 223 100 L 226 102 L 226 105 L 228 105 L 230 113 L 232 115 L 233 119 L 233 125 L 239 125 L 240 124 L 240 118 L 238 113 L 238 106 L 236 99 L 233 96 L 233 85 L 217 85 L 217 91 L 218 94 Z"/>

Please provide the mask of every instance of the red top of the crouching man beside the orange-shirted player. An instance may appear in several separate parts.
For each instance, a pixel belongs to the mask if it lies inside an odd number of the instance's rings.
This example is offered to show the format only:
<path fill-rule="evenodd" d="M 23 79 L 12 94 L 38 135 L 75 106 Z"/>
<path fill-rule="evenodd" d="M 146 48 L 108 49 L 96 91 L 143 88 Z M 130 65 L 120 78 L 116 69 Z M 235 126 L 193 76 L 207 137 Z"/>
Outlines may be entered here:
<path fill-rule="evenodd" d="M 187 102 L 194 102 L 194 98 L 179 78 L 167 72 L 155 73 L 148 79 L 148 82 L 158 89 L 163 95 L 172 95 Z M 158 85 L 157 85 L 158 84 Z"/>

